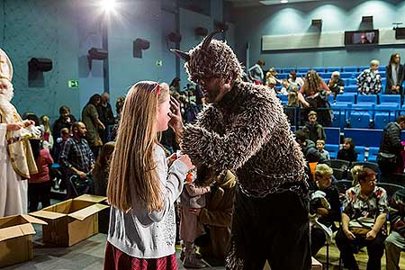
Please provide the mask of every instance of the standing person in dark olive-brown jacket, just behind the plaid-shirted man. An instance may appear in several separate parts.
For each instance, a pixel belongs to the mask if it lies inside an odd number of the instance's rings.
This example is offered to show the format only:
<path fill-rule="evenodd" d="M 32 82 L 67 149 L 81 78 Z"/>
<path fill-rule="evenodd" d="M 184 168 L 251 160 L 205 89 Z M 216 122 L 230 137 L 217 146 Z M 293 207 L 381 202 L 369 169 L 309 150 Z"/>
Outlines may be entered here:
<path fill-rule="evenodd" d="M 85 124 L 85 129 L 87 130 L 85 138 L 93 151 L 94 157 L 98 156 L 98 151 L 103 145 L 103 141 L 100 138 L 100 133 L 98 130 L 99 128 L 105 130 L 105 126 L 103 122 L 100 121 L 97 112 L 97 106 L 99 106 L 100 103 L 101 95 L 93 94 L 82 111 L 82 121 Z"/>

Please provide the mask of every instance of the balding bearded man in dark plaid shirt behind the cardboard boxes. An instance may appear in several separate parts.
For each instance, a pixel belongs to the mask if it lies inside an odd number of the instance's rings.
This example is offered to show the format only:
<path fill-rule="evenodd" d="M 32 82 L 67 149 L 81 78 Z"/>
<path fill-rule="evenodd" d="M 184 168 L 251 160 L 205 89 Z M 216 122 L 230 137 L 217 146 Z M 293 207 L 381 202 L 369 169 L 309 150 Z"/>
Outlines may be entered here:
<path fill-rule="evenodd" d="M 60 166 L 67 170 L 67 177 L 78 175 L 81 179 L 85 179 L 93 168 L 94 154 L 85 140 L 86 133 L 83 122 L 73 123 L 72 137 L 64 143 L 59 157 Z M 67 197 L 71 198 L 74 195 L 71 183 L 67 184 Z"/>

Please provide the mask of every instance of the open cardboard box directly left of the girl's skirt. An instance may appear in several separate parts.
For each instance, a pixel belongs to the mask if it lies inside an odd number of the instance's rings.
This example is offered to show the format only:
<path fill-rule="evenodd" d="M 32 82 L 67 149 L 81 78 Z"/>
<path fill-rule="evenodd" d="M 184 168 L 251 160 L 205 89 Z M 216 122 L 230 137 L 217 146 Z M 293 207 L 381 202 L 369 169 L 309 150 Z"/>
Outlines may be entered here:
<path fill-rule="evenodd" d="M 97 213 L 108 208 L 108 205 L 99 202 L 106 199 L 85 194 L 30 214 L 48 222 L 48 225 L 42 226 L 44 243 L 70 247 L 98 233 Z"/>

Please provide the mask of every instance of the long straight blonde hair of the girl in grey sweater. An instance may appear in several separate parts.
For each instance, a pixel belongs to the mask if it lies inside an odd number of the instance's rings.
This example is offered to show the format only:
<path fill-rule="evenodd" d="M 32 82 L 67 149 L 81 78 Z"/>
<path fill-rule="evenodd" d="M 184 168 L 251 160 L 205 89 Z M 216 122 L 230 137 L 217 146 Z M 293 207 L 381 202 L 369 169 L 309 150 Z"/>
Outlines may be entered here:
<path fill-rule="evenodd" d="M 168 95 L 168 85 L 142 81 L 125 98 L 107 186 L 109 202 L 121 211 L 136 203 L 149 212 L 163 207 L 154 148 L 158 104 Z"/>

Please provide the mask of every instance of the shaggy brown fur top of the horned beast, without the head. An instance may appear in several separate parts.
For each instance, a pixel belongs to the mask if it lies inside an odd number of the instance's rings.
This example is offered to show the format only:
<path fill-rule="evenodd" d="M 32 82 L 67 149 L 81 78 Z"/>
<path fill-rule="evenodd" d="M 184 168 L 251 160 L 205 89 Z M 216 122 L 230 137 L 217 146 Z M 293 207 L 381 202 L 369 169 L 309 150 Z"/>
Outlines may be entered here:
<path fill-rule="evenodd" d="M 239 184 L 253 193 L 298 181 L 305 166 L 275 93 L 240 81 L 185 127 L 182 147 L 194 165 L 236 172 Z"/>

